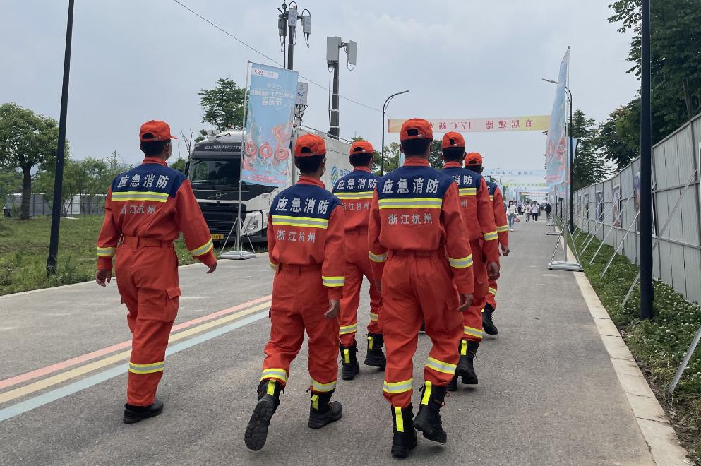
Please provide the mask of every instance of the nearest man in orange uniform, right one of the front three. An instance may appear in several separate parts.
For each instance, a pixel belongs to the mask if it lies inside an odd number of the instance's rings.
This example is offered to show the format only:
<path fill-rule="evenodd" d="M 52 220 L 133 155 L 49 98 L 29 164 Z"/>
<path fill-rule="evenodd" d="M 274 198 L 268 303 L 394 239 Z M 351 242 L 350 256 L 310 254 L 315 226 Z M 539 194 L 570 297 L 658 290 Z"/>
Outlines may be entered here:
<path fill-rule="evenodd" d="M 424 119 L 402 124 L 405 164 L 380 179 L 369 223 L 373 277 L 381 284 L 380 325 L 387 366 L 383 395 L 392 405 L 392 455 L 405 458 L 425 438 L 447 441 L 439 410 L 455 374 L 463 334 L 462 312 L 472 301 L 469 239 L 455 180 L 429 166 L 433 131 Z M 431 351 L 416 419 L 412 408 L 414 365 L 421 318 Z"/>

